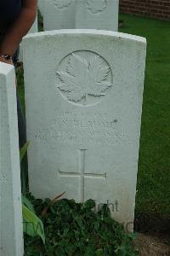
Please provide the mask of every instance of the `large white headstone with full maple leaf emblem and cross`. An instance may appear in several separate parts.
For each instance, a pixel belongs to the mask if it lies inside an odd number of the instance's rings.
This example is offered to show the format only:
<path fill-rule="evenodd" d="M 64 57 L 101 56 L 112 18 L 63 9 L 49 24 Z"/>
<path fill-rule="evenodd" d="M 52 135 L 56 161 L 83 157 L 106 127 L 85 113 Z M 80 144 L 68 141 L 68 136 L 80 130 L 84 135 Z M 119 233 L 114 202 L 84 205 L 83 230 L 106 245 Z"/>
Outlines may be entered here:
<path fill-rule="evenodd" d="M 145 39 L 61 30 L 24 44 L 31 192 L 108 202 L 133 222 Z"/>

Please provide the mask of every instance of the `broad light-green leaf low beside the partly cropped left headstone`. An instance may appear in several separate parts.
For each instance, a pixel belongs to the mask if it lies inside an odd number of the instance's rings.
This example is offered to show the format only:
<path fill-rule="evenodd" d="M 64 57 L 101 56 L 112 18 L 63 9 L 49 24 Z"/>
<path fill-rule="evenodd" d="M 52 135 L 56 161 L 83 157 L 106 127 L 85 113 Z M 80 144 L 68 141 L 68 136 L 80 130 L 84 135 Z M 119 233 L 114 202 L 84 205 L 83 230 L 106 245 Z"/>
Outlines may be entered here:
<path fill-rule="evenodd" d="M 42 220 L 38 218 L 34 212 L 31 212 L 25 205 L 22 205 L 22 214 L 24 220 L 24 232 L 32 237 L 40 236 L 43 243 L 45 243 Z"/>

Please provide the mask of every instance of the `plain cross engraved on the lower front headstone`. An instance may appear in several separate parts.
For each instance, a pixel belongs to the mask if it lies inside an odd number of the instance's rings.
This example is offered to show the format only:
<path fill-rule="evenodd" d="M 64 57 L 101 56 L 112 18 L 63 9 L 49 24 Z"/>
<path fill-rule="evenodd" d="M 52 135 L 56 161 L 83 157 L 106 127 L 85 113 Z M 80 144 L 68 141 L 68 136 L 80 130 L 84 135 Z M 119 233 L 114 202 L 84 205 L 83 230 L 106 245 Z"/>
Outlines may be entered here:
<path fill-rule="evenodd" d="M 80 177 L 80 197 L 81 201 L 84 201 L 84 194 L 85 194 L 85 177 L 95 177 L 95 178 L 102 178 L 106 179 L 106 172 L 105 173 L 90 173 L 85 172 L 85 160 L 86 160 L 86 151 L 88 149 L 79 149 L 80 151 L 80 164 L 79 164 L 79 172 L 62 172 L 58 170 L 59 177 Z"/>

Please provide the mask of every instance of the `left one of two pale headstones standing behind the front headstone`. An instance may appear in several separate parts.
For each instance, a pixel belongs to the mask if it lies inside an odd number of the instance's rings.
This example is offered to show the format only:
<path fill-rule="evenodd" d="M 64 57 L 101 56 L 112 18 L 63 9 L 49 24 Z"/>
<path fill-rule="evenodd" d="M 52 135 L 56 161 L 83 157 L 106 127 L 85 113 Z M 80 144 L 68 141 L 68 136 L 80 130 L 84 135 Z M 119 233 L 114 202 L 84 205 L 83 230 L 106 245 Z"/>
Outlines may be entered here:
<path fill-rule="evenodd" d="M 44 31 L 75 28 L 75 0 L 44 0 Z"/>

